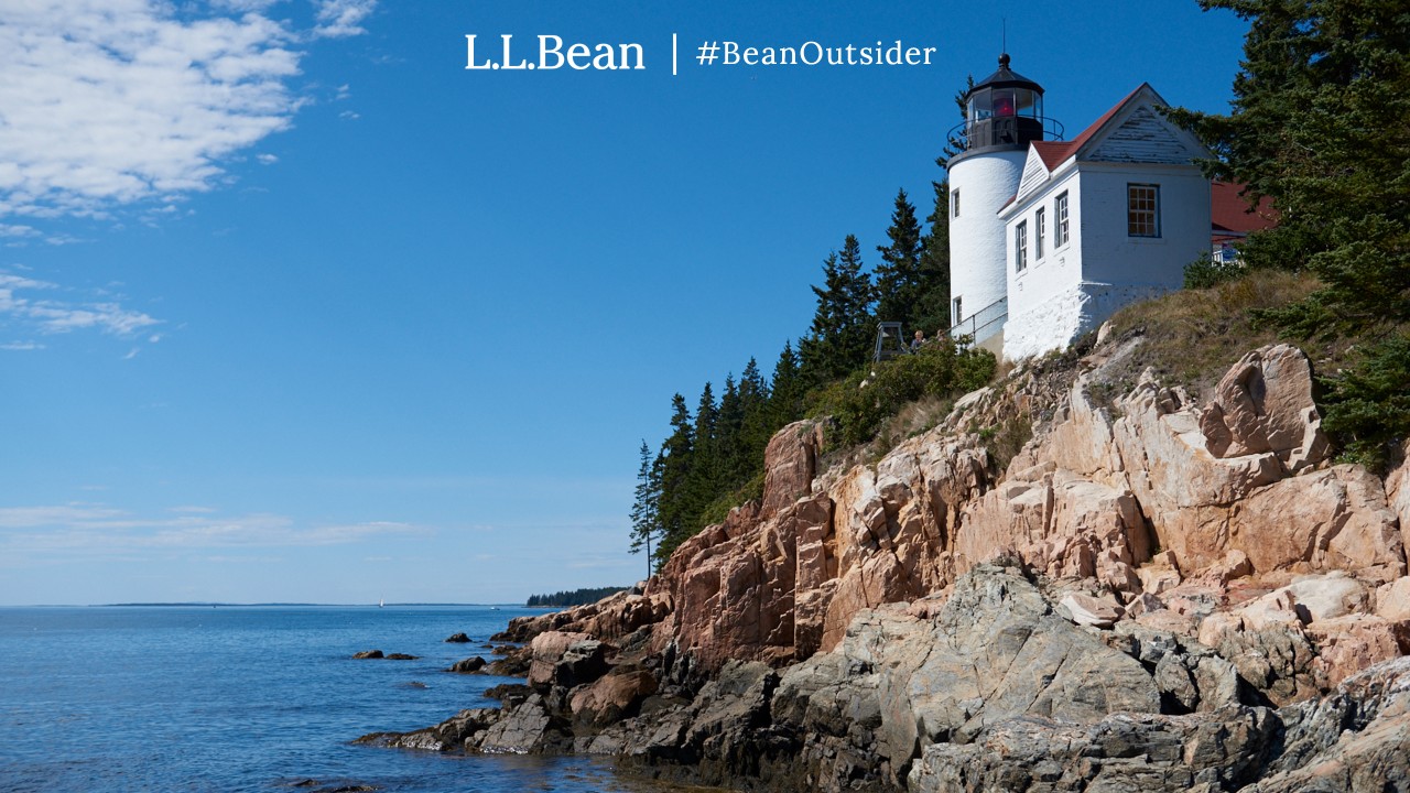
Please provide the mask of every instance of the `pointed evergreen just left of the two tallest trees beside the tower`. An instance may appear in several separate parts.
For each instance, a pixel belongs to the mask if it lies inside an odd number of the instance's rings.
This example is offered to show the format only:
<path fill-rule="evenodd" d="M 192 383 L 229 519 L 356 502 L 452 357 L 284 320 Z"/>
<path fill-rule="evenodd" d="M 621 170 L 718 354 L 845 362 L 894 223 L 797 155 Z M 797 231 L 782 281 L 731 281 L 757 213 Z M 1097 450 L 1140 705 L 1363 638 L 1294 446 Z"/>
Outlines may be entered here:
<path fill-rule="evenodd" d="M 809 336 L 799 343 L 802 367 L 814 382 L 842 377 L 867 358 L 874 333 L 871 277 L 862 270 L 862 244 L 847 234 L 842 253 L 828 254 L 823 284 L 814 286 L 818 309 Z"/>

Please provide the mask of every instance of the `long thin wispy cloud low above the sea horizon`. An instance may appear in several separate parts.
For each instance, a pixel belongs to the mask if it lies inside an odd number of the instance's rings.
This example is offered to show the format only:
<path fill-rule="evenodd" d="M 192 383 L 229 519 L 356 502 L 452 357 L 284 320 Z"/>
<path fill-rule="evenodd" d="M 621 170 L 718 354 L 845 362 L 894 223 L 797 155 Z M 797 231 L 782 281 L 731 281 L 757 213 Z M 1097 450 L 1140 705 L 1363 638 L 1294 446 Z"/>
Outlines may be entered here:
<path fill-rule="evenodd" d="M 350 545 L 429 529 L 395 521 L 303 525 L 283 515 L 221 516 L 173 507 L 134 515 L 93 504 L 0 508 L 0 549 L 8 552 L 135 552 L 144 549 L 292 547 Z"/>

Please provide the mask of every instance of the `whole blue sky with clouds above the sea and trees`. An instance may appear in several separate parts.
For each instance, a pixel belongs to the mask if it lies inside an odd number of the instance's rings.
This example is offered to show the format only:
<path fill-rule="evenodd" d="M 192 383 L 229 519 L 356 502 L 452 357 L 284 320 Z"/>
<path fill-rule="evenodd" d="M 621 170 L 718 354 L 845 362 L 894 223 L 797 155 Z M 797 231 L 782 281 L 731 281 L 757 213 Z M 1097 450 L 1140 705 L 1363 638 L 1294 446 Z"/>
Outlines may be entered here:
<path fill-rule="evenodd" d="M 671 395 L 771 371 L 898 189 L 929 214 L 1005 35 L 1073 137 L 1142 82 L 1227 110 L 1245 30 L 1194 0 L 0 0 L 0 604 L 629 586 Z M 467 35 L 643 68 L 468 69 Z M 698 62 L 732 41 L 935 52 Z"/>

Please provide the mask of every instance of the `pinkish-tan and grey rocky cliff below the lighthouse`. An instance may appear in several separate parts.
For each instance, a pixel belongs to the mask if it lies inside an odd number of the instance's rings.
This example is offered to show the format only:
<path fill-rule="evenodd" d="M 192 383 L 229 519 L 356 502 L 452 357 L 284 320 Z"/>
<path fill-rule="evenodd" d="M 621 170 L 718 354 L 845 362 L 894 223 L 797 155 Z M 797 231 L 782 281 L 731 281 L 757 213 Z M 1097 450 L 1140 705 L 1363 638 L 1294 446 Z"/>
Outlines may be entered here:
<path fill-rule="evenodd" d="M 785 428 L 761 501 L 658 576 L 510 624 L 503 708 L 368 741 L 773 790 L 1410 789 L 1410 467 L 1332 464 L 1287 346 L 1203 401 L 1107 399 L 1139 346 L 1017 371 L 874 464 Z"/>

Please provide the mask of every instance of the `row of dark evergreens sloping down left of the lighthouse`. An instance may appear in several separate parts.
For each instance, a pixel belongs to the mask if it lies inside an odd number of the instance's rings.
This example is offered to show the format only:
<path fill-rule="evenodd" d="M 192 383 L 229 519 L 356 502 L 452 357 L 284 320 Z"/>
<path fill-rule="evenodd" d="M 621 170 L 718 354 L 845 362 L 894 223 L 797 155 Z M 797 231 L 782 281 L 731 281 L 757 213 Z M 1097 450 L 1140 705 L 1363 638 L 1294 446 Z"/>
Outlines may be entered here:
<path fill-rule="evenodd" d="M 925 329 L 949 344 L 949 186 L 932 182 L 932 189 L 929 230 L 905 190 L 897 192 L 874 267 L 854 234 L 826 255 L 822 282 L 811 286 L 812 323 L 797 350 L 784 343 L 770 377 L 750 358 L 718 394 L 705 382 L 694 411 L 684 395 L 671 396 L 670 435 L 654 450 L 643 440 L 639 452 L 633 553 L 664 562 L 732 507 L 759 498 L 768 439 L 819 406 L 825 385 L 867 367 L 877 322 Z"/>

